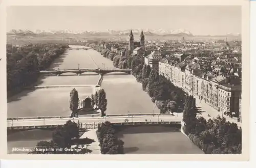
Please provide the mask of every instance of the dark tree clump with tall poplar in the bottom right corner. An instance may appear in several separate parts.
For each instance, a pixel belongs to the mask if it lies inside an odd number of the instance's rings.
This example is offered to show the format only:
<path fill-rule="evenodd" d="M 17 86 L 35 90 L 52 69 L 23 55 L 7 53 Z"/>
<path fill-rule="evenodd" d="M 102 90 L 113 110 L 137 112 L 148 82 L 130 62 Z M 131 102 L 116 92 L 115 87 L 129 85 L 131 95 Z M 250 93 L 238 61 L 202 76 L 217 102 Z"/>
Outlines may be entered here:
<path fill-rule="evenodd" d="M 236 123 L 218 116 L 206 121 L 197 117 L 196 99 L 186 96 L 183 111 L 183 131 L 206 154 L 241 154 L 242 129 Z"/>

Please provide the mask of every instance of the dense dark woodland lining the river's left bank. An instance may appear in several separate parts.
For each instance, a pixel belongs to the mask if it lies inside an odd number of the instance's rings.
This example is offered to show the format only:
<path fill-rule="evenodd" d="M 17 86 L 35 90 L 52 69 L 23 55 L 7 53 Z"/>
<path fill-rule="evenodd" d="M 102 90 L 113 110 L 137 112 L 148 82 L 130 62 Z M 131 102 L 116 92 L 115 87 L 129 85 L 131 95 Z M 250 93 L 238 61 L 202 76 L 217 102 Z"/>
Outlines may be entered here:
<path fill-rule="evenodd" d="M 39 71 L 48 68 L 68 45 L 39 43 L 23 46 L 7 44 L 7 93 L 15 94 L 37 81 Z"/>

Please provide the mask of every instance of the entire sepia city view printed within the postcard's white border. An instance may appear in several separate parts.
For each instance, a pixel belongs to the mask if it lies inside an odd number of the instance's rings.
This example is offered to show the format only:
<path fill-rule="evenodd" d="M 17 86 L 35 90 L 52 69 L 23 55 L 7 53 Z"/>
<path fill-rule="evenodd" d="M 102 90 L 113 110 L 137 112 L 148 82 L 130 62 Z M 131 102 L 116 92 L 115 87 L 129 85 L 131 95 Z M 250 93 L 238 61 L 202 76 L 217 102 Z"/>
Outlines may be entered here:
<path fill-rule="evenodd" d="M 9 6 L 7 154 L 241 155 L 242 43 L 241 6 Z"/>

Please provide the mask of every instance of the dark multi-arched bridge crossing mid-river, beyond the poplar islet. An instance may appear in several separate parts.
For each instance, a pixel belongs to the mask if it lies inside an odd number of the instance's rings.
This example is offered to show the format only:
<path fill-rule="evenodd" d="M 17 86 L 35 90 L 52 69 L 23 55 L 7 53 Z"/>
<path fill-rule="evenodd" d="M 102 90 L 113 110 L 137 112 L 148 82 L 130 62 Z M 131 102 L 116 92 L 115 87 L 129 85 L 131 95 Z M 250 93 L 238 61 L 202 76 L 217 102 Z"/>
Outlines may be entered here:
<path fill-rule="evenodd" d="M 44 71 L 40 71 L 41 74 L 53 74 L 53 75 L 61 75 L 63 73 L 75 73 L 77 75 L 81 75 L 84 72 L 96 72 L 98 74 L 107 74 L 107 73 L 111 73 L 111 72 L 124 72 L 127 74 L 131 74 L 132 69 L 58 69 L 58 70 L 44 70 Z"/>

